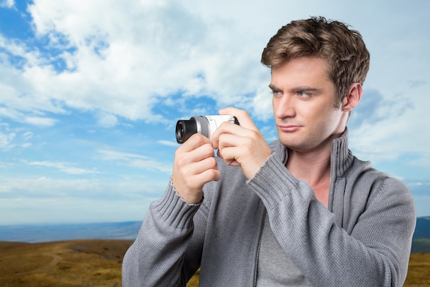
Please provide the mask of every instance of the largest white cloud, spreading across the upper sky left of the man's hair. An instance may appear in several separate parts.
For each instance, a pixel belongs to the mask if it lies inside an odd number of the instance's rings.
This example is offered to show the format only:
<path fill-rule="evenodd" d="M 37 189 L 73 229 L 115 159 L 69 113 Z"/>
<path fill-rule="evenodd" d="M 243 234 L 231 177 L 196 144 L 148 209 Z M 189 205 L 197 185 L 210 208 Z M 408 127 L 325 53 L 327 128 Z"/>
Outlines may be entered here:
<path fill-rule="evenodd" d="M 38 0 L 29 11 L 38 36 L 47 37 L 54 52 L 3 39 L 5 50 L 22 63 L 21 77 L 13 66 L 4 67 L 18 74 L 3 80 L 12 89 L 5 103 L 14 109 L 22 110 L 16 102 L 25 100 L 27 109 L 64 112 L 62 103 L 159 121 L 152 106 L 170 94 L 205 94 L 231 105 L 247 103 L 259 85 L 260 45 L 229 36 L 242 34 L 232 31 L 231 21 L 215 25 L 177 4 L 151 1 Z M 65 70 L 56 70 L 58 61 Z"/>

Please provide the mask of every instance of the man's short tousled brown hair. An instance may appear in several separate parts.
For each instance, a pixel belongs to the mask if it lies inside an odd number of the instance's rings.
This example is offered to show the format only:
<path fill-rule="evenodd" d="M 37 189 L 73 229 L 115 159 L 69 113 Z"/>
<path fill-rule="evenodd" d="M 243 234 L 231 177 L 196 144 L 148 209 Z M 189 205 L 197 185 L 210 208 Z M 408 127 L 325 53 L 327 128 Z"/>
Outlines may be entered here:
<path fill-rule="evenodd" d="M 276 68 L 304 56 L 315 56 L 328 63 L 329 76 L 337 88 L 337 105 L 352 83 L 364 83 L 370 65 L 370 54 L 361 34 L 324 17 L 284 25 L 267 43 L 261 63 Z"/>

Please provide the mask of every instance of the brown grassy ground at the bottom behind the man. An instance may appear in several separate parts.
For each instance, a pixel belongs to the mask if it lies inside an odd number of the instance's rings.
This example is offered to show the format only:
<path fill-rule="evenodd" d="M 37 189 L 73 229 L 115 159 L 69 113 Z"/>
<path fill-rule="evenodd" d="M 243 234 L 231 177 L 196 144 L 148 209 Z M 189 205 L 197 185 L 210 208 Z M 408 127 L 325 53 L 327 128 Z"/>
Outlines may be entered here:
<path fill-rule="evenodd" d="M 120 287 L 122 258 L 131 243 L 127 240 L 0 242 L 0 286 Z M 196 286 L 199 286 L 198 274 L 187 285 Z M 430 286 L 430 253 L 411 254 L 405 286 Z"/>

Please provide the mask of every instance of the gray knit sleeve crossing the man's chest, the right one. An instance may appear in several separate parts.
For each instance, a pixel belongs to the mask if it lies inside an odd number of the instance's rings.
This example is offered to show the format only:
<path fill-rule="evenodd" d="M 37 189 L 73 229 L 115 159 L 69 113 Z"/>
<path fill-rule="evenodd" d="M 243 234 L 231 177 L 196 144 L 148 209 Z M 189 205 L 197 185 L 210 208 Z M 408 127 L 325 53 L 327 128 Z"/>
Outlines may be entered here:
<path fill-rule="evenodd" d="M 348 232 L 274 156 L 248 184 L 266 206 L 278 242 L 313 286 L 403 285 L 416 213 L 398 180 L 372 185 Z"/>

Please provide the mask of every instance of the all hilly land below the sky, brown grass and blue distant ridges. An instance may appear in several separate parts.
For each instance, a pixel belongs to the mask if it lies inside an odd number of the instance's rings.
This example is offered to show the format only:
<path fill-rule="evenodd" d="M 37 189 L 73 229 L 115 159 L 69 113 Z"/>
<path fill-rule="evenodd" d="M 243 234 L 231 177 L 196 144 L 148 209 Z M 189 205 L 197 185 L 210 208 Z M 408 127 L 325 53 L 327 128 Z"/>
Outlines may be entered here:
<path fill-rule="evenodd" d="M 0 226 L 0 286 L 120 287 L 122 259 L 140 225 Z M 405 286 L 430 286 L 430 217 L 417 218 L 411 253 Z M 187 287 L 198 281 L 195 275 Z"/>

